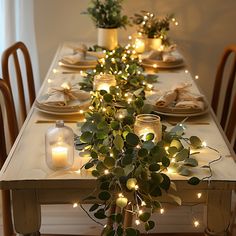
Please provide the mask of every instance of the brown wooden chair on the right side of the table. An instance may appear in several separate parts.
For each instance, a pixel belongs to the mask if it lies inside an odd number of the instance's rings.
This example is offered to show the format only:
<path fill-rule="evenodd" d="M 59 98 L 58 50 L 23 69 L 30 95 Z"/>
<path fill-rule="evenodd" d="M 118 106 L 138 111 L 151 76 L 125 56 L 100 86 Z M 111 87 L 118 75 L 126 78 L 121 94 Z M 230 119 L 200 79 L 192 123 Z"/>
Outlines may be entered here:
<path fill-rule="evenodd" d="M 230 57 L 231 55 L 233 57 Z M 228 79 L 225 76 L 227 73 L 229 74 Z M 225 48 L 220 64 L 218 66 L 213 90 L 213 97 L 211 102 L 211 106 L 214 112 L 218 114 L 220 107 L 219 106 L 220 97 L 223 97 L 222 98 L 223 109 L 221 114 L 219 115 L 220 124 L 230 142 L 232 141 L 234 127 L 236 125 L 236 114 L 235 114 L 236 108 L 234 104 L 235 101 L 233 101 L 233 96 L 234 94 L 236 94 L 233 91 L 235 75 L 236 75 L 236 45 L 230 45 Z M 222 94 L 223 81 L 226 83 L 226 90 Z M 235 150 L 235 143 L 233 144 L 233 146 Z"/>

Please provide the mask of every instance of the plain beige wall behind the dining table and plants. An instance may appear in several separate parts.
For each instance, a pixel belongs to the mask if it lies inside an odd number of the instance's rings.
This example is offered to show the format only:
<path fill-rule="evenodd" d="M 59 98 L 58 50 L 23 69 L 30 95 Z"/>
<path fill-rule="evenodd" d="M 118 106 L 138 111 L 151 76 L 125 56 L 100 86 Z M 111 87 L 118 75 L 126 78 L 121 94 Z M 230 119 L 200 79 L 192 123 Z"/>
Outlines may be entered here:
<path fill-rule="evenodd" d="M 89 0 L 34 0 L 35 27 L 43 80 L 56 48 L 63 41 L 96 42 L 96 29 L 87 15 Z M 124 0 L 129 16 L 141 9 L 165 15 L 174 13 L 179 26 L 172 27 L 172 39 L 184 54 L 200 88 L 211 98 L 215 71 L 226 45 L 236 42 L 233 20 L 235 0 Z M 134 28 L 120 30 L 120 42 Z"/>

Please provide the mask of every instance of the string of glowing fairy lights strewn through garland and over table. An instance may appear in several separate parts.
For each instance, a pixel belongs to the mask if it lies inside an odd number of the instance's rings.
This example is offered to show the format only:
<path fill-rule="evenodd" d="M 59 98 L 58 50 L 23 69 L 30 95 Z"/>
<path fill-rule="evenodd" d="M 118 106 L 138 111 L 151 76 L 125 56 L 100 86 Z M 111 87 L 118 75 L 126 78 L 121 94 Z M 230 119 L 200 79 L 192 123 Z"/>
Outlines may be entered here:
<path fill-rule="evenodd" d="M 145 19 L 145 18 L 144 18 L 144 19 Z M 173 22 L 176 26 L 179 25 L 178 21 L 176 21 L 175 18 L 172 18 L 172 22 Z M 143 24 L 145 24 L 145 21 L 143 22 Z M 132 40 L 132 37 L 129 36 L 129 39 Z M 124 63 L 126 62 L 127 56 L 129 56 L 129 57 L 131 57 L 131 58 L 133 58 L 133 59 L 136 58 L 137 53 L 136 53 L 136 50 L 135 50 L 135 45 L 132 45 L 132 44 L 129 43 L 128 45 L 125 46 L 125 49 L 126 49 L 126 53 L 124 53 L 124 54 L 122 55 L 122 57 L 121 57 L 122 62 L 124 62 Z M 104 53 L 106 54 L 106 57 L 105 57 L 105 58 L 108 58 L 109 56 L 112 56 L 112 55 L 115 53 L 115 51 L 114 51 L 114 50 L 112 50 L 112 51 L 106 51 L 106 50 L 104 50 Z M 100 65 L 101 65 L 101 67 L 105 66 L 105 63 L 106 63 L 105 58 L 99 59 L 99 63 L 100 63 Z M 111 58 L 111 62 L 112 62 L 112 63 L 115 63 L 115 62 L 116 62 L 116 59 L 115 59 L 115 58 Z M 141 63 L 141 62 L 142 62 L 142 60 L 139 59 L 139 63 Z M 60 65 L 60 63 L 59 63 L 59 65 Z M 129 67 L 129 65 L 127 64 L 126 69 L 128 69 L 128 67 Z M 156 65 L 156 64 L 153 64 L 153 68 L 157 68 L 157 65 Z M 63 73 L 63 72 L 62 72 L 60 69 L 54 68 L 54 69 L 53 69 L 53 74 L 58 74 L 58 73 L 60 74 L 60 73 Z M 96 69 L 93 70 L 93 73 L 97 73 Z M 100 72 L 100 73 L 102 74 L 102 72 Z M 138 74 L 141 74 L 141 73 L 142 73 L 141 71 L 138 71 Z M 188 70 L 185 70 L 185 73 L 188 74 L 189 71 L 188 71 Z M 80 76 L 82 76 L 82 77 L 86 77 L 86 76 L 88 75 L 87 72 L 82 71 L 82 70 L 79 72 L 79 74 L 80 74 Z M 115 71 L 113 71 L 113 74 L 114 74 L 114 75 L 121 75 L 121 74 L 122 74 L 122 71 L 121 71 L 121 70 L 115 70 Z M 130 75 L 130 74 L 127 72 L 127 74 L 125 75 L 125 77 L 128 77 L 129 75 Z M 199 79 L 199 76 L 198 76 L 198 75 L 195 75 L 194 78 L 195 78 L 195 80 L 198 80 L 198 79 Z M 52 79 L 48 79 L 48 83 L 49 83 L 49 84 L 52 83 Z M 152 91 L 152 89 L 153 89 L 153 85 L 152 85 L 152 84 L 146 83 L 145 81 L 144 81 L 143 83 L 144 83 L 143 85 L 145 85 L 146 88 L 147 88 L 149 91 Z M 117 86 L 117 88 L 119 88 L 119 87 Z M 92 95 L 92 96 L 93 96 L 95 93 L 96 93 L 96 91 L 91 91 L 91 95 Z M 117 95 L 119 95 L 119 94 L 117 94 Z M 124 93 L 124 97 L 126 98 L 128 104 L 132 102 L 132 94 L 130 94 L 129 92 L 125 92 L 125 93 Z M 102 102 L 102 101 L 101 101 L 101 102 Z M 92 111 L 93 109 L 94 109 L 93 106 L 90 106 L 90 107 L 89 107 L 89 110 L 90 110 L 90 111 Z M 101 109 L 102 109 L 103 112 L 106 112 L 106 107 L 102 107 Z M 84 112 L 85 112 L 85 111 L 84 111 L 83 109 L 81 109 L 81 110 L 79 111 L 80 114 L 84 114 Z M 121 113 L 121 114 L 118 114 L 118 117 L 119 117 L 119 119 L 123 119 L 123 118 L 124 118 L 124 115 Z M 180 125 L 182 125 L 182 124 L 180 124 Z M 212 149 L 212 150 L 214 150 L 215 152 L 217 152 L 217 153 L 220 155 L 220 153 L 219 153 L 216 149 L 207 146 L 207 143 L 206 143 L 205 141 L 202 142 L 202 148 L 209 148 L 209 149 Z M 166 147 L 166 151 L 168 152 L 168 147 Z M 112 153 L 112 152 L 110 153 L 110 156 L 111 156 L 111 157 L 113 156 L 113 153 Z M 219 161 L 221 158 L 222 158 L 222 155 L 220 155 L 219 158 L 217 158 L 217 159 L 215 159 L 215 160 L 213 160 L 213 161 L 211 161 L 211 162 L 208 163 L 209 170 L 210 170 L 210 175 L 204 177 L 202 180 L 209 180 L 209 181 L 210 181 L 210 179 L 211 179 L 211 177 L 212 177 L 211 165 L 214 164 L 215 162 Z M 174 157 L 171 159 L 171 162 L 175 162 Z M 77 173 L 77 174 L 80 174 L 80 173 L 81 173 L 81 170 L 77 170 L 76 173 Z M 104 174 L 105 174 L 105 175 L 108 175 L 109 173 L 110 173 L 110 172 L 109 172 L 108 169 L 105 169 L 105 170 L 104 170 Z M 167 168 L 167 173 L 173 173 L 172 170 L 171 170 L 171 168 Z M 139 189 L 139 186 L 136 184 L 135 181 L 130 181 L 130 183 L 129 183 L 128 186 L 129 186 L 129 187 L 128 187 L 129 189 L 135 190 L 135 198 L 136 198 L 136 202 L 137 202 L 137 204 L 136 204 L 136 209 L 131 209 L 130 212 L 131 212 L 132 214 L 134 214 L 134 216 L 135 216 L 135 218 L 134 218 L 134 223 L 135 223 L 135 225 L 138 226 L 138 225 L 141 224 L 140 219 L 138 218 L 138 216 L 143 213 L 142 207 L 144 207 L 144 206 L 146 205 L 146 202 L 145 202 L 145 201 L 141 198 L 141 196 L 138 194 L 137 191 L 138 191 L 138 189 Z M 198 200 L 202 199 L 202 198 L 203 198 L 203 193 L 202 193 L 202 192 L 196 193 L 196 198 L 197 198 Z M 116 202 L 118 202 L 118 205 L 119 205 L 119 203 L 120 203 L 121 205 L 122 205 L 122 204 L 124 204 L 124 205 L 129 204 L 128 198 L 126 198 L 122 192 L 118 193 Z M 140 202 L 140 204 L 139 204 L 139 202 Z M 202 203 L 196 203 L 196 204 L 182 204 L 182 206 L 188 206 L 188 207 L 191 208 L 192 225 L 193 225 L 193 227 L 195 227 L 195 228 L 200 227 L 201 223 L 200 223 L 200 220 L 198 219 L 198 217 L 196 216 L 196 214 L 194 213 L 193 208 L 194 208 L 195 206 L 197 206 L 197 205 L 200 205 L 200 204 L 202 204 Z M 100 224 L 100 225 L 106 227 L 106 225 L 103 225 L 102 223 L 100 223 L 100 222 L 96 221 L 95 219 L 93 219 L 93 218 L 88 214 L 88 212 L 85 210 L 85 208 L 83 207 L 83 205 L 82 205 L 80 202 L 75 202 L 75 203 L 73 203 L 73 204 L 72 204 L 72 207 L 73 207 L 73 208 L 81 207 L 81 209 L 82 209 L 93 221 L 95 221 L 96 223 L 98 223 L 98 224 Z M 159 212 L 160 212 L 160 215 L 163 215 L 163 214 L 165 214 L 166 209 L 162 206 L 162 207 L 159 209 Z"/>

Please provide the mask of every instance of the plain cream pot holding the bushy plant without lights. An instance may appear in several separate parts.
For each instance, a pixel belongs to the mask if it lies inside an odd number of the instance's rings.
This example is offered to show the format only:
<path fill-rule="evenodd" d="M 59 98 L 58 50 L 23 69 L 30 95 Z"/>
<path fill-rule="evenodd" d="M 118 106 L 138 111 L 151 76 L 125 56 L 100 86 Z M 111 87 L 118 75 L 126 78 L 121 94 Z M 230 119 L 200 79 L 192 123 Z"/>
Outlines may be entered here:
<path fill-rule="evenodd" d="M 98 28 L 98 46 L 113 50 L 118 45 L 117 28 Z"/>

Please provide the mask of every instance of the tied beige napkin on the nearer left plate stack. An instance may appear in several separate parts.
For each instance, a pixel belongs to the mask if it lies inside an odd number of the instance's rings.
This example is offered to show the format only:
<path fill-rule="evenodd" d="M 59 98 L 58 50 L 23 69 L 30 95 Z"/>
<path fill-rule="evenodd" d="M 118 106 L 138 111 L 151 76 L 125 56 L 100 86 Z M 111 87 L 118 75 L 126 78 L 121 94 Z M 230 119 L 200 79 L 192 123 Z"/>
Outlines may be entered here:
<path fill-rule="evenodd" d="M 41 103 L 56 106 L 66 106 L 69 101 L 79 100 L 83 102 L 90 98 L 88 92 L 80 90 L 78 84 L 71 84 L 70 82 L 65 82 L 58 87 L 49 88 L 47 95 L 48 97 L 41 101 Z"/>

